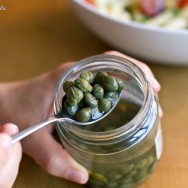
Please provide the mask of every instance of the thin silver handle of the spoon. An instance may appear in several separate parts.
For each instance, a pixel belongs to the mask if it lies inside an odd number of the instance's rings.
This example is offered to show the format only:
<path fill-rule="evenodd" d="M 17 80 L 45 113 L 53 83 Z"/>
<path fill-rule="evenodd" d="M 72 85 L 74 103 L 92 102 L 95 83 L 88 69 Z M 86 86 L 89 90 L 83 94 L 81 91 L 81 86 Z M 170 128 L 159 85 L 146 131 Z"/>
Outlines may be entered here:
<path fill-rule="evenodd" d="M 28 127 L 27 129 L 20 131 L 18 134 L 15 134 L 12 136 L 12 144 L 18 142 L 22 138 L 25 138 L 26 136 L 30 135 L 31 133 L 45 127 L 46 125 L 49 125 L 49 124 L 57 122 L 57 121 L 58 121 L 58 118 L 56 118 L 55 116 L 51 116 L 39 123 L 36 123 L 36 124 Z"/>

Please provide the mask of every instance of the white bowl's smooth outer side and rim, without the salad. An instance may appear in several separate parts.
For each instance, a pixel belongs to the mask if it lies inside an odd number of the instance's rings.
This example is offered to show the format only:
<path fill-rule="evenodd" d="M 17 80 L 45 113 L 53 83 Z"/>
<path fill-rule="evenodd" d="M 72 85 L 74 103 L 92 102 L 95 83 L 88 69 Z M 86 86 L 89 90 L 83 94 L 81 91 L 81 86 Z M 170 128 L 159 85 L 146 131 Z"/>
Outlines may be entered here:
<path fill-rule="evenodd" d="M 101 13 L 84 0 L 70 0 L 80 19 L 101 39 L 126 54 L 149 62 L 187 65 L 188 30 L 124 22 Z"/>

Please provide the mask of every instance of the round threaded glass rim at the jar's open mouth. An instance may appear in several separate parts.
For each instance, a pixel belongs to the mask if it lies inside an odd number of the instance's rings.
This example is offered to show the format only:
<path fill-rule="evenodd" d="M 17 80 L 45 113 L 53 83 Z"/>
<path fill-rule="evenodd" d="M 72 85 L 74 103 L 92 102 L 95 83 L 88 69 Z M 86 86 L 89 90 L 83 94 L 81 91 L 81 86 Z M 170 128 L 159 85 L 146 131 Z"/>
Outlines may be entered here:
<path fill-rule="evenodd" d="M 144 119 L 147 113 L 147 110 L 148 110 L 147 101 L 150 98 L 149 97 L 150 84 L 146 78 L 145 73 L 142 71 L 142 69 L 138 65 L 136 65 L 132 61 L 128 60 L 127 58 L 119 57 L 115 55 L 92 56 L 89 58 L 85 58 L 81 61 L 78 61 L 75 65 L 69 68 L 60 78 L 57 84 L 56 90 L 55 90 L 55 102 L 54 102 L 55 113 L 58 113 L 58 111 L 61 110 L 61 104 L 59 103 L 58 98 L 59 98 L 60 90 L 62 90 L 62 84 L 64 83 L 64 81 L 70 74 L 76 74 L 76 72 L 78 71 L 80 67 L 87 68 L 88 66 L 92 66 L 93 64 L 93 69 L 94 69 L 94 66 L 96 65 L 100 66 L 101 63 L 105 63 L 107 65 L 107 63 L 109 62 L 113 62 L 115 64 L 118 63 L 118 65 L 121 65 L 120 68 L 123 68 L 123 67 L 130 68 L 130 70 L 132 71 L 130 75 L 133 76 L 133 78 L 138 81 L 140 89 L 143 92 L 143 95 L 144 95 L 143 104 L 141 105 L 139 112 L 133 117 L 132 120 L 122 125 L 121 127 L 110 130 L 110 131 L 93 132 L 93 131 L 81 129 L 77 127 L 76 125 L 70 125 L 69 123 L 67 123 L 66 125 L 65 124 L 63 125 L 64 128 L 71 131 L 71 133 L 83 139 L 88 139 L 88 140 L 93 140 L 93 141 L 105 141 L 105 140 L 111 140 L 114 138 L 119 138 L 121 136 L 127 136 L 127 137 L 131 136 L 132 134 L 135 133 L 135 131 L 139 130 L 140 128 L 139 121 L 140 119 Z"/>

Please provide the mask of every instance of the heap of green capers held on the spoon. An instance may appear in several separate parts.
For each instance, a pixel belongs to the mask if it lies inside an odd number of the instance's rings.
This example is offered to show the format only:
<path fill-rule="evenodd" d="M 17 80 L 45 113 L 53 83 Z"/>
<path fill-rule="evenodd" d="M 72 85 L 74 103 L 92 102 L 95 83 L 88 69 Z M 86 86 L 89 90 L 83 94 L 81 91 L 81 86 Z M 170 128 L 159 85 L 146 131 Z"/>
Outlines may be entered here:
<path fill-rule="evenodd" d="M 93 112 L 108 112 L 123 88 L 123 81 L 107 72 L 82 72 L 74 81 L 64 82 L 66 101 L 63 106 L 78 121 L 88 122 L 95 115 Z"/>

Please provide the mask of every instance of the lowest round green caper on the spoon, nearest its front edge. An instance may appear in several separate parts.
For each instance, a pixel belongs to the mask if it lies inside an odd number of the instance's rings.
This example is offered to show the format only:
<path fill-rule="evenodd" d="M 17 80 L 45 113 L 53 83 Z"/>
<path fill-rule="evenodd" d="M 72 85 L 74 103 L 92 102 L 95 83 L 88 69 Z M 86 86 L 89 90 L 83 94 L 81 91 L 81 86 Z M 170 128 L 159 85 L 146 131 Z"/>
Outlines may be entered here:
<path fill-rule="evenodd" d="M 80 122 L 88 122 L 91 119 L 91 108 L 84 107 L 78 110 L 76 119 Z"/>

